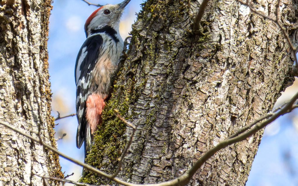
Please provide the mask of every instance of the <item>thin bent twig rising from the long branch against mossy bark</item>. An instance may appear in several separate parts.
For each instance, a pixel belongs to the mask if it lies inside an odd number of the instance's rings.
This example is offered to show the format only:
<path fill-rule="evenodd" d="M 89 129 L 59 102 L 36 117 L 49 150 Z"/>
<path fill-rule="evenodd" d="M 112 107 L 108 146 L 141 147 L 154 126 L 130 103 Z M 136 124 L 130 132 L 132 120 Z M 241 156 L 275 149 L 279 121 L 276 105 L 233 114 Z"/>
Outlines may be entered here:
<path fill-rule="evenodd" d="M 114 112 L 116 113 L 117 117 L 118 117 L 121 121 L 123 121 L 123 123 L 125 123 L 126 125 L 128 125 L 128 126 L 130 126 L 130 127 L 132 128 L 132 133 L 131 133 L 131 135 L 129 136 L 128 143 L 126 144 L 126 147 L 125 147 L 124 151 L 122 152 L 121 157 L 119 158 L 118 168 L 117 168 L 116 172 L 112 175 L 112 178 L 116 177 L 116 176 L 119 174 L 119 172 L 120 172 L 120 170 L 121 170 L 121 166 L 122 166 L 123 159 L 124 159 L 124 157 L 125 157 L 125 154 L 127 153 L 129 147 L 131 146 L 131 142 L 132 142 L 132 139 L 133 139 L 133 137 L 134 137 L 134 133 L 136 132 L 136 126 L 134 126 L 134 125 L 131 124 L 129 121 L 126 121 L 124 118 L 122 118 L 122 117 L 120 116 L 119 110 L 114 109 Z"/>

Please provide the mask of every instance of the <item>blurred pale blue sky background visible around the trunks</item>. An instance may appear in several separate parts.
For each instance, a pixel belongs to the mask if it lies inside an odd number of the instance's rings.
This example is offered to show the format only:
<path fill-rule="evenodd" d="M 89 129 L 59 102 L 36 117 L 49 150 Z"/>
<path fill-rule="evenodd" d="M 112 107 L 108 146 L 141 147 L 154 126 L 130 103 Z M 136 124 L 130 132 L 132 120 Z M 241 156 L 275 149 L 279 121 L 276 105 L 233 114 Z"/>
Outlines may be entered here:
<path fill-rule="evenodd" d="M 100 4 L 117 4 L 121 0 L 101 0 L 89 2 Z M 131 24 L 136 19 L 136 12 L 141 9 L 143 0 L 132 0 L 125 8 L 120 23 L 122 38 L 128 36 Z M 82 0 L 54 0 L 49 25 L 49 71 L 52 84 L 52 115 L 61 116 L 75 113 L 75 79 L 74 67 L 77 52 L 86 36 L 84 24 L 89 15 L 97 9 L 88 6 Z M 298 90 L 298 80 L 288 87 L 276 106 L 291 98 Z M 294 186 L 298 185 L 298 110 L 280 117 L 270 124 L 263 135 L 262 142 L 253 162 L 247 186 Z M 58 140 L 58 149 L 63 153 L 84 161 L 83 148 L 77 149 L 75 135 L 77 118 L 60 119 L 56 127 L 56 138 L 66 133 L 63 139 Z M 60 158 L 62 171 L 65 175 L 74 173 L 68 179 L 77 181 L 82 168 Z M 71 185 L 71 184 L 66 184 Z"/>

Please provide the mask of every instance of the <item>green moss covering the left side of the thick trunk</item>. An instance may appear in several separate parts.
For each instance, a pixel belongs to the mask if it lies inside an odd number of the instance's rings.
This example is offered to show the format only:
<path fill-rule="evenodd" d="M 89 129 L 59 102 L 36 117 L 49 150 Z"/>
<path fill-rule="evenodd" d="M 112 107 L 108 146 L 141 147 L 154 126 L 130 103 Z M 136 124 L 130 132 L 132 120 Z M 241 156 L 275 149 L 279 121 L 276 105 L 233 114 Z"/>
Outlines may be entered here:
<path fill-rule="evenodd" d="M 105 106 L 103 111 L 103 125 L 99 127 L 94 135 L 94 144 L 91 147 L 86 163 L 105 170 L 107 173 L 114 173 L 122 150 L 124 149 L 127 139 L 123 135 L 126 126 L 114 115 L 114 109 L 118 109 L 120 115 L 127 120 L 137 117 L 134 112 L 134 104 L 142 95 L 147 82 L 147 77 L 153 71 L 161 50 L 170 54 L 170 60 L 164 65 L 164 76 L 170 76 L 175 73 L 177 65 L 184 65 L 185 61 L 177 61 L 176 57 L 181 48 L 192 46 L 192 40 L 195 38 L 190 28 L 183 31 L 184 40 L 177 42 L 175 39 L 174 28 L 170 28 L 171 24 L 181 22 L 180 19 L 185 17 L 188 12 L 186 4 L 188 1 L 153 1 L 149 0 L 143 4 L 143 10 L 138 14 L 138 21 L 133 25 L 131 32 L 131 46 L 128 58 L 117 75 L 117 81 L 114 82 L 114 93 Z M 170 30 L 172 29 L 172 30 Z M 161 35 L 161 32 L 162 35 Z M 172 33 L 173 32 L 173 33 Z M 169 38 L 164 35 L 168 34 Z M 202 45 L 209 39 L 209 35 L 199 37 L 199 43 Z M 177 44 L 178 43 L 178 44 Z M 185 58 L 191 56 L 191 51 L 185 52 Z M 169 91 L 169 84 L 172 82 L 159 82 L 159 88 L 154 95 L 148 95 L 148 99 L 154 100 L 154 108 L 150 108 L 150 112 L 146 115 L 144 123 L 142 123 L 142 134 L 144 136 L 151 135 L 152 127 L 156 121 L 159 106 L 162 105 L 164 94 Z M 172 88 L 172 86 L 170 86 Z M 148 105 L 144 105 L 147 107 Z M 150 106 L 148 106 L 150 107 Z M 135 124 L 136 126 L 138 124 Z M 138 149 L 134 149 L 136 153 L 134 158 L 136 162 L 141 158 L 142 148 L 144 147 L 144 136 L 138 136 Z M 165 149 L 163 149 L 165 151 Z M 123 168 L 124 174 L 131 174 L 133 164 L 128 162 Z M 89 184 L 109 184 L 110 181 L 100 178 L 89 171 L 83 172 L 80 182 Z"/>

